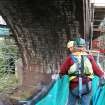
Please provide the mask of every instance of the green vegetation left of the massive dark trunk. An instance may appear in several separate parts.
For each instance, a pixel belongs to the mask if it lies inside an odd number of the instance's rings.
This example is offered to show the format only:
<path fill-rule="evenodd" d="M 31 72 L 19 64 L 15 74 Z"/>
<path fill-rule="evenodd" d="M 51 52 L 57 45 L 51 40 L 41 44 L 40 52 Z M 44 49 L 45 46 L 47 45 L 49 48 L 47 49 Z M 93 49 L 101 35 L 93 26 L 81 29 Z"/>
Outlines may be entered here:
<path fill-rule="evenodd" d="M 0 38 L 0 92 L 17 86 L 15 77 L 15 61 L 18 59 L 18 47 L 9 38 Z"/>

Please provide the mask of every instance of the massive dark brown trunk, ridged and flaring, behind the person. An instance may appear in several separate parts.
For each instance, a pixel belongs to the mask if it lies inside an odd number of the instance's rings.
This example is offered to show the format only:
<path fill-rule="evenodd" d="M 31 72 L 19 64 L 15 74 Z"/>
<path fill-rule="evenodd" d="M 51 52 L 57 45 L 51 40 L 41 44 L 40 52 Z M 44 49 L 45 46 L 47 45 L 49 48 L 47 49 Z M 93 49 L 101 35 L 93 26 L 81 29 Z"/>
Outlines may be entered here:
<path fill-rule="evenodd" d="M 50 74 L 59 71 L 68 53 L 67 41 L 79 33 L 84 37 L 86 30 L 88 35 L 89 29 L 84 28 L 86 2 L 0 0 L 0 14 L 11 28 L 21 53 L 22 85 L 50 82 Z"/>

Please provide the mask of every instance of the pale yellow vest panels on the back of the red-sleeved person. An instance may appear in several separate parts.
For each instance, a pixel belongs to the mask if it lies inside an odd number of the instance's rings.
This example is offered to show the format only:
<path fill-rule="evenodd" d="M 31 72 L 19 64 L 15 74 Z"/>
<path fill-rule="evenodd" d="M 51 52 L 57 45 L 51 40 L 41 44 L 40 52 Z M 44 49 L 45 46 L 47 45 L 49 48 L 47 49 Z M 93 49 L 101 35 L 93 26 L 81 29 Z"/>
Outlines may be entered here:
<path fill-rule="evenodd" d="M 74 64 L 69 68 L 68 70 L 68 75 L 69 80 L 73 80 L 78 76 L 78 71 L 81 69 L 81 56 L 77 55 L 70 55 L 70 58 L 72 58 Z M 93 78 L 93 68 L 90 60 L 88 59 L 87 55 L 83 56 L 84 59 L 84 70 L 83 70 L 83 75 L 87 76 L 88 78 Z"/>

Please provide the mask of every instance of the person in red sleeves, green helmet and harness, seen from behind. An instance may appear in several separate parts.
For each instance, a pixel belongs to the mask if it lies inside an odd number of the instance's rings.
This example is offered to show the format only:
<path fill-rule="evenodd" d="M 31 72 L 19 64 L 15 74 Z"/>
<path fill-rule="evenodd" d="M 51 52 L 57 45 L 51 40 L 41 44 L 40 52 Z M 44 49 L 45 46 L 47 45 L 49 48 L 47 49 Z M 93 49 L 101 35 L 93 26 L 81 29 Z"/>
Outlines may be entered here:
<path fill-rule="evenodd" d="M 81 105 L 90 105 L 93 75 L 105 78 L 93 56 L 86 52 L 83 38 L 76 38 L 67 43 L 70 55 L 67 56 L 60 68 L 60 75 L 68 75 L 70 91 L 67 105 L 78 105 L 81 93 Z M 80 79 L 81 78 L 81 79 Z M 82 86 L 80 83 L 82 82 Z M 81 88 L 80 88 L 81 87 Z"/>

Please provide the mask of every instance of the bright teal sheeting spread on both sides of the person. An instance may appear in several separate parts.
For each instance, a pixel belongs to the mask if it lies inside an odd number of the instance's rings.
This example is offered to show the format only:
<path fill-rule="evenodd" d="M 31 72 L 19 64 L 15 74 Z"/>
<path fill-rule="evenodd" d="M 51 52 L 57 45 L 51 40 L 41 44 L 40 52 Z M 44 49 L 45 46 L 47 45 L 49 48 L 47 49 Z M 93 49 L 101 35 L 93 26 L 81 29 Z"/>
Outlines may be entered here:
<path fill-rule="evenodd" d="M 99 77 L 92 80 L 92 105 L 105 105 L 105 86 L 99 86 Z M 67 105 L 69 96 L 69 77 L 64 75 L 51 83 L 46 91 L 36 94 L 33 99 L 23 101 L 25 105 Z M 21 101 L 21 103 L 23 103 Z"/>

